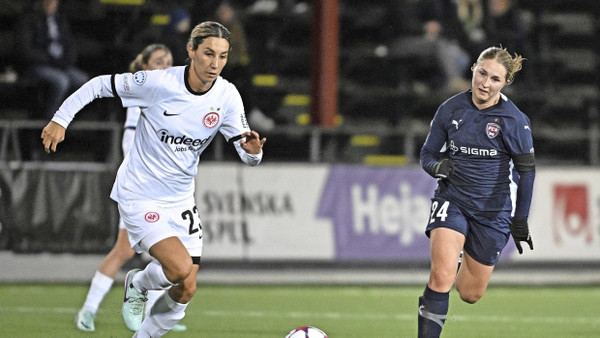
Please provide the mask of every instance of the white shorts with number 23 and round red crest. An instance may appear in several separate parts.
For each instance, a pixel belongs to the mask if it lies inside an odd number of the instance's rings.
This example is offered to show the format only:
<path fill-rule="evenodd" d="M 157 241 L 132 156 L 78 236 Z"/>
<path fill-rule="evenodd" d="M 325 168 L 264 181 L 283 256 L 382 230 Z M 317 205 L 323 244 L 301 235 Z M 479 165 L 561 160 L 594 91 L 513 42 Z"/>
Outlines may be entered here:
<path fill-rule="evenodd" d="M 148 252 L 159 241 L 178 237 L 190 256 L 202 256 L 202 222 L 193 196 L 178 203 L 119 203 L 119 213 L 136 252 Z"/>

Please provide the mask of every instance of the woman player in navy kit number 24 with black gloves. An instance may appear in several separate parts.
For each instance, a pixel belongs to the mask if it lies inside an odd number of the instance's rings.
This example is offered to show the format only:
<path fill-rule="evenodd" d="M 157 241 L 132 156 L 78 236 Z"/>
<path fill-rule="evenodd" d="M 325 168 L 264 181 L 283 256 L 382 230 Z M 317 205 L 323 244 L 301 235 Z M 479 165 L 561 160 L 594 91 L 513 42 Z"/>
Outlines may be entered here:
<path fill-rule="evenodd" d="M 418 336 L 439 337 L 452 285 L 477 302 L 512 234 L 533 242 L 527 218 L 535 178 L 529 118 L 500 91 L 523 58 L 505 48 L 484 50 L 473 65 L 472 88 L 438 108 L 421 149 L 421 166 L 438 178 L 426 234 L 431 271 L 419 298 Z M 462 263 L 457 273 L 457 262 Z"/>

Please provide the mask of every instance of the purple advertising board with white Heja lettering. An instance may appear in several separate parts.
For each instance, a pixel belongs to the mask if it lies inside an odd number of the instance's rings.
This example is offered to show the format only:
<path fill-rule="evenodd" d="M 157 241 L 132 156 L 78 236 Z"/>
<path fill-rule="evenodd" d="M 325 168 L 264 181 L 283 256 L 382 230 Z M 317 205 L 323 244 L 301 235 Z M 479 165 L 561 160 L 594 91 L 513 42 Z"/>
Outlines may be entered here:
<path fill-rule="evenodd" d="M 332 166 L 318 217 L 333 223 L 336 259 L 428 259 L 435 187 L 420 167 Z"/>

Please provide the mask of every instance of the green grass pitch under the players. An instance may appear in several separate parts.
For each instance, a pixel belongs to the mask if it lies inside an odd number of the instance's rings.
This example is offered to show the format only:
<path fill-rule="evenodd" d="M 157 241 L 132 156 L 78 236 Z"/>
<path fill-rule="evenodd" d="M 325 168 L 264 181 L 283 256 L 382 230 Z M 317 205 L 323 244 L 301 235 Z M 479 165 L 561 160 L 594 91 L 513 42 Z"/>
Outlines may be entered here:
<path fill-rule="evenodd" d="M 96 332 L 74 317 L 87 285 L 0 284 L 1 337 L 131 337 L 121 319 L 122 288 L 100 306 Z M 421 286 L 203 286 L 166 337 L 283 338 L 312 325 L 333 338 L 416 337 Z M 443 338 L 600 337 L 600 286 L 494 287 L 474 305 L 453 290 Z"/>

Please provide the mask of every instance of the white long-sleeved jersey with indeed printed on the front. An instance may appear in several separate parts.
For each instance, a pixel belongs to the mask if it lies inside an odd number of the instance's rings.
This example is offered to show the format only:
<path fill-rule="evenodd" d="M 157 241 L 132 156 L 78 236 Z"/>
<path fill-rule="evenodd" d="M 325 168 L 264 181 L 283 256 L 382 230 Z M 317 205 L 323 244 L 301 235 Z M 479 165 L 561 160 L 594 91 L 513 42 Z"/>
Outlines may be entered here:
<path fill-rule="evenodd" d="M 257 165 L 262 152 L 248 154 L 239 136 L 250 131 L 239 92 L 218 77 L 204 93 L 187 82 L 188 66 L 98 76 L 69 97 L 54 122 L 67 127 L 75 114 L 98 97 L 117 96 L 141 116 L 129 154 L 117 173 L 111 198 L 117 202 L 180 202 L 193 196 L 200 155 L 220 131 L 241 159 Z"/>

